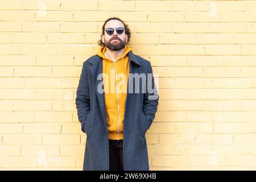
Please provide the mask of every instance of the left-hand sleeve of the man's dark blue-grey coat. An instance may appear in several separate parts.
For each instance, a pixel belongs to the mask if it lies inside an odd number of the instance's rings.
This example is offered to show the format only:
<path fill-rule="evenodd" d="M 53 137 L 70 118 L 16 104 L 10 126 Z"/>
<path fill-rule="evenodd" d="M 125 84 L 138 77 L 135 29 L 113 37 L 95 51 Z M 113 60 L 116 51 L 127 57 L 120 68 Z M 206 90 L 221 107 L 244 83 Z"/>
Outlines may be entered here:
<path fill-rule="evenodd" d="M 88 75 L 85 68 L 85 62 L 86 61 L 84 61 L 84 64 L 82 65 L 82 72 L 76 92 L 77 116 L 81 125 L 86 120 L 90 111 Z M 81 127 L 81 130 L 85 133 L 83 127 Z"/>

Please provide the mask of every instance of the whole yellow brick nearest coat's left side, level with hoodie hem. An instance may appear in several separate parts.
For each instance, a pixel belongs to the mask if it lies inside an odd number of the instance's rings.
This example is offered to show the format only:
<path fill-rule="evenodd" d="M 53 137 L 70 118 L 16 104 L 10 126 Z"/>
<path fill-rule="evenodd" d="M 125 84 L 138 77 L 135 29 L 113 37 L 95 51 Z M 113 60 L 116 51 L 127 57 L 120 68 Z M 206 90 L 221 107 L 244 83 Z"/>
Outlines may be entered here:
<path fill-rule="evenodd" d="M 47 134 L 43 135 L 43 144 L 80 144 L 80 135 Z"/>

